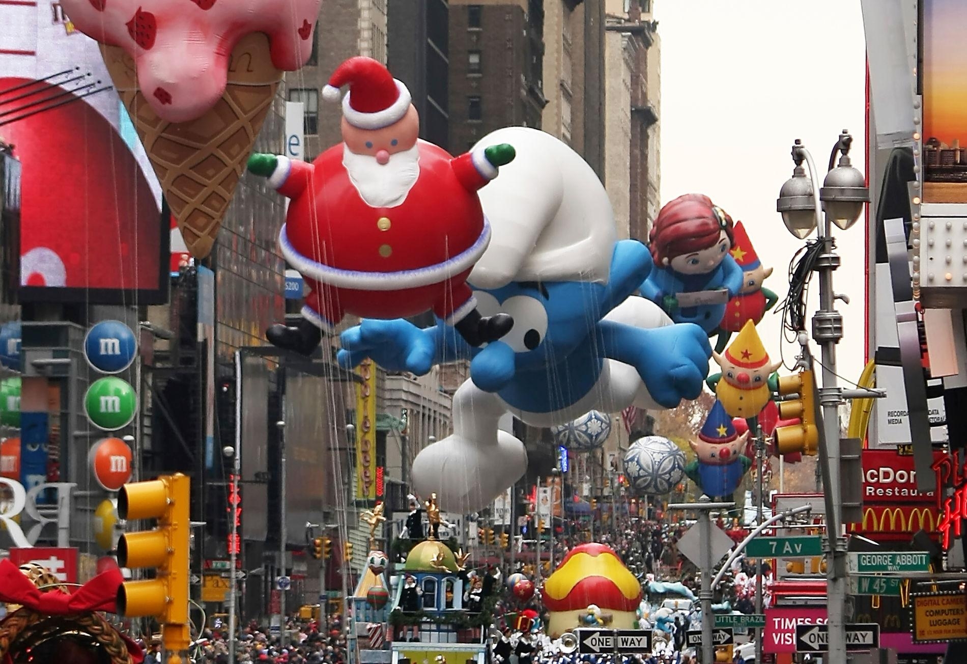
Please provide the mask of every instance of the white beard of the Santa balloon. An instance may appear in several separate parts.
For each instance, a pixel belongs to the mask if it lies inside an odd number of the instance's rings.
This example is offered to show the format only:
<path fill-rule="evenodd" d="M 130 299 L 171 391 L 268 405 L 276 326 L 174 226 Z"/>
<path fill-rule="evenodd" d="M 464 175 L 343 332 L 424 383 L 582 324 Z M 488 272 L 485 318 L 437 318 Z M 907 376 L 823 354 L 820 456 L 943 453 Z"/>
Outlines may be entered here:
<path fill-rule="evenodd" d="M 380 165 L 375 157 L 358 155 L 348 146 L 342 146 L 342 166 L 349 174 L 349 181 L 373 207 L 396 207 L 410 193 L 420 177 L 420 148 L 390 155 L 390 162 Z"/>

